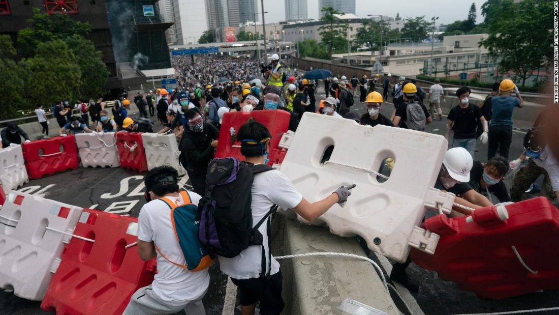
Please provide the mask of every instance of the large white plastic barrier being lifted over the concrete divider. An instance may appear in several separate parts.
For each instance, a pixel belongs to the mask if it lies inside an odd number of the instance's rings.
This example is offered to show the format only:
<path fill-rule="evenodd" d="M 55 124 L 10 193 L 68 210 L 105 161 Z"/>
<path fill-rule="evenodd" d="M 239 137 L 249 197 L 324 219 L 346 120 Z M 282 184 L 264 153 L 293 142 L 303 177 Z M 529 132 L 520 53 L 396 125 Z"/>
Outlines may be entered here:
<path fill-rule="evenodd" d="M 344 208 L 334 205 L 311 223 L 328 224 L 339 236 L 358 234 L 372 251 L 403 262 L 427 201 L 440 193 L 431 187 L 446 148 L 439 135 L 306 113 L 280 171 L 310 202 L 326 198 L 341 185 L 357 184 Z M 385 181 L 377 172 L 386 158 L 395 164 Z M 452 200 L 443 206 L 451 207 Z M 427 238 L 427 250 L 436 241 L 434 236 Z"/>

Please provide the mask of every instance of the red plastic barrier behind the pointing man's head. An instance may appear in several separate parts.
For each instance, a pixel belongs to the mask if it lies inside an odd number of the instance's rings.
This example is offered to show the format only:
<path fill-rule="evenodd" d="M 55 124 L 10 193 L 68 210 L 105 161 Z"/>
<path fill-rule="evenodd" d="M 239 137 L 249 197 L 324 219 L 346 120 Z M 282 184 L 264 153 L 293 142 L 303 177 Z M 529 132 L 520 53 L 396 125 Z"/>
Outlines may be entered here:
<path fill-rule="evenodd" d="M 291 115 L 283 110 L 258 110 L 248 112 L 227 112 L 223 116 L 223 121 L 221 124 L 221 129 L 219 133 L 219 142 L 217 143 L 217 151 L 215 153 L 216 158 L 224 157 L 236 157 L 244 160 L 240 151 L 240 142 L 231 141 L 231 127 L 235 129 L 235 133 L 239 131 L 241 125 L 247 122 L 249 118 L 262 123 L 268 127 L 270 134 L 272 134 L 272 140 L 270 140 L 269 152 L 278 148 L 281 136 L 287 131 L 289 126 L 289 120 Z M 261 140 L 261 139 L 256 139 Z M 268 162 L 268 165 L 272 165 L 272 161 Z"/>

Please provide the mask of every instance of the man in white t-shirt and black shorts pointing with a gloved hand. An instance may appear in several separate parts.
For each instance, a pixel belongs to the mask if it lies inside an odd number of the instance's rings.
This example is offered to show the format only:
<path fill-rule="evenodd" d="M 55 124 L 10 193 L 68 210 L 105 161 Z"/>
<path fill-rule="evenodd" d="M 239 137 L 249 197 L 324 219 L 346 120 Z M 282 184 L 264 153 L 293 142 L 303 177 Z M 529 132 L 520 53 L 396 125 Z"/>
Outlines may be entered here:
<path fill-rule="evenodd" d="M 241 154 L 246 162 L 265 164 L 269 139 L 272 135 L 261 123 L 250 119 L 239 128 L 237 139 L 241 142 Z M 258 143 L 253 142 L 256 139 Z M 254 175 L 252 184 L 252 222 L 253 227 L 266 216 L 275 204 L 283 210 L 293 209 L 302 218 L 312 221 L 324 214 L 334 204 L 347 201 L 355 185 L 342 186 L 323 200 L 309 203 L 293 187 L 282 172 L 270 170 Z M 253 245 L 243 250 L 238 256 L 225 258 L 219 256 L 221 271 L 231 277 L 239 287 L 241 312 L 254 314 L 255 305 L 260 301 L 260 314 L 280 314 L 285 304 L 281 297 L 282 275 L 280 264 L 269 253 L 268 224 L 258 228 L 262 233 L 266 270 L 262 270 L 262 246 Z M 270 261 L 271 260 L 271 261 Z M 269 275 L 269 276 L 266 276 Z"/>

